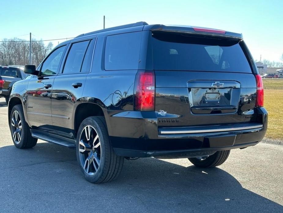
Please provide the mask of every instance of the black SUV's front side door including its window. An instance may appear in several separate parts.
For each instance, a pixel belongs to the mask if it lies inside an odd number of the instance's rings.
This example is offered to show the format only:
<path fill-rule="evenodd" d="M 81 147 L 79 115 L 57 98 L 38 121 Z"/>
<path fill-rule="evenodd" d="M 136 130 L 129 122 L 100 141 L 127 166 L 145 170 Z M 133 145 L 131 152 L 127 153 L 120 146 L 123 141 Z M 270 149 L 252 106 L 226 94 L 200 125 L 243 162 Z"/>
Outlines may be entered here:
<path fill-rule="evenodd" d="M 43 62 L 39 76 L 28 82 L 27 116 L 29 124 L 34 128 L 49 130 L 52 125 L 51 91 L 55 76 L 58 74 L 66 46 L 55 49 Z"/>

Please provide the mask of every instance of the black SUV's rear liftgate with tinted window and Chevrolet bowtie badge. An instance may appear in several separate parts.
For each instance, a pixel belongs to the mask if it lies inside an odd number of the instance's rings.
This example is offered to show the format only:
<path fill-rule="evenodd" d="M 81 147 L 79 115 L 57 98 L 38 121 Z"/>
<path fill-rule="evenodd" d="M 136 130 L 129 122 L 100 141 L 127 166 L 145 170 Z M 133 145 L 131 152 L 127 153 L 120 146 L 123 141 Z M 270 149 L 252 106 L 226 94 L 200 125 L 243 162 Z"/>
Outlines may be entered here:
<path fill-rule="evenodd" d="M 256 81 L 242 41 L 153 32 L 159 126 L 251 122 Z"/>

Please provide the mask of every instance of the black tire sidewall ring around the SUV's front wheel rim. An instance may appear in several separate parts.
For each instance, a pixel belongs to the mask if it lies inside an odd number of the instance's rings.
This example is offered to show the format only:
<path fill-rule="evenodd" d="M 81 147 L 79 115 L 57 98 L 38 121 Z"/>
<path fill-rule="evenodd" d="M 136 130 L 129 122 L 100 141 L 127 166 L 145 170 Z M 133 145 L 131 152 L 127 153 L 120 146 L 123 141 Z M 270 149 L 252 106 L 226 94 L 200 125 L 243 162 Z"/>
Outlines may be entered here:
<path fill-rule="evenodd" d="M 26 140 L 26 131 L 25 131 L 25 128 L 26 128 L 26 122 L 24 120 L 24 114 L 23 114 L 23 110 L 20 109 L 21 106 L 14 106 L 12 111 L 11 111 L 11 114 L 10 114 L 10 132 L 11 132 L 11 136 L 12 136 L 12 140 L 13 140 L 13 143 L 14 145 L 17 147 L 17 148 L 24 148 L 25 144 L 24 144 L 24 141 Z M 12 116 L 13 116 L 13 113 L 14 111 L 17 111 L 20 115 L 20 120 L 22 122 L 22 136 L 21 136 L 21 139 L 20 139 L 20 142 L 19 143 L 16 143 L 14 141 L 14 138 L 13 138 L 13 132 L 12 132 Z"/>

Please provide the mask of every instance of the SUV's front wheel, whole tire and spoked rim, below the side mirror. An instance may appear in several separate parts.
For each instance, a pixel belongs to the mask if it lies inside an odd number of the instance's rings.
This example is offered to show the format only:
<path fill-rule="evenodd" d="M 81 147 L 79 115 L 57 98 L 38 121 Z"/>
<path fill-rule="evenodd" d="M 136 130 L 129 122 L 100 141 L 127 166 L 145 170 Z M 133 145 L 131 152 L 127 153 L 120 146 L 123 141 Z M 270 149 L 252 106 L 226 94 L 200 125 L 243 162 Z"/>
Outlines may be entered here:
<path fill-rule="evenodd" d="M 22 105 L 15 105 L 10 115 L 10 130 L 14 145 L 19 149 L 32 148 L 37 139 L 32 137 L 29 126 L 24 119 Z"/>

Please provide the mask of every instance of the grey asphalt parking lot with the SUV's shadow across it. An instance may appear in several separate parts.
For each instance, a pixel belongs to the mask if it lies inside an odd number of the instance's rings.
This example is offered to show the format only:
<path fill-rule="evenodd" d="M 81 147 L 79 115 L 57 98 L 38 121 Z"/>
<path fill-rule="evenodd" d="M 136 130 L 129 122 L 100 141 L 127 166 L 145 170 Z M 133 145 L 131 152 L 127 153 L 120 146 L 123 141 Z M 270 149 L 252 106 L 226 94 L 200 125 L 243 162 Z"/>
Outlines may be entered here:
<path fill-rule="evenodd" d="M 283 146 L 232 150 L 218 168 L 125 160 L 113 182 L 84 180 L 74 149 L 13 146 L 0 99 L 0 212 L 283 212 Z"/>

